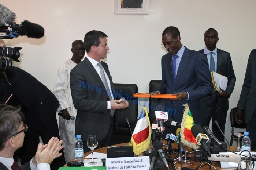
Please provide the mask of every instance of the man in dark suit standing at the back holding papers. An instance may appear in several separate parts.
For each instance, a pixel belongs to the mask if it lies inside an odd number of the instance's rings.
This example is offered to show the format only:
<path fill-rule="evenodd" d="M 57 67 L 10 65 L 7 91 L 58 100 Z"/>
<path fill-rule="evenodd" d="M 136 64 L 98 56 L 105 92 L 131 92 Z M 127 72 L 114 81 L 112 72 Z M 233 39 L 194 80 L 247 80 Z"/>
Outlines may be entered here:
<path fill-rule="evenodd" d="M 212 132 L 220 140 L 224 141 L 224 136 L 219 131 L 214 121 L 218 121 L 220 129 L 224 133 L 227 118 L 227 110 L 229 109 L 229 97 L 235 87 L 235 73 L 232 66 L 230 54 L 226 51 L 217 49 L 218 32 L 213 28 L 209 28 L 204 33 L 205 48 L 200 50 L 208 60 L 210 71 L 215 71 L 227 77 L 227 88 L 220 89 L 221 93 L 215 90 L 207 97 L 200 100 L 200 112 L 202 114 L 202 127 L 209 126 L 212 119 Z M 212 55 L 211 55 L 212 54 Z M 211 70 L 211 57 L 212 70 Z M 211 77 L 211 75 L 209 75 Z"/>

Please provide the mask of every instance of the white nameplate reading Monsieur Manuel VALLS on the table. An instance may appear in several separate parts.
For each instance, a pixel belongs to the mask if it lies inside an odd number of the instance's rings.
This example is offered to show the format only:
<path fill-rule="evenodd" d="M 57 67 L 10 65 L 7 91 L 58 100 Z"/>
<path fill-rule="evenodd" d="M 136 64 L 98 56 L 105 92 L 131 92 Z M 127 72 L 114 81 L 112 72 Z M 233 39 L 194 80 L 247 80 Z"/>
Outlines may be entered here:
<path fill-rule="evenodd" d="M 149 156 L 106 158 L 106 170 L 148 170 Z"/>

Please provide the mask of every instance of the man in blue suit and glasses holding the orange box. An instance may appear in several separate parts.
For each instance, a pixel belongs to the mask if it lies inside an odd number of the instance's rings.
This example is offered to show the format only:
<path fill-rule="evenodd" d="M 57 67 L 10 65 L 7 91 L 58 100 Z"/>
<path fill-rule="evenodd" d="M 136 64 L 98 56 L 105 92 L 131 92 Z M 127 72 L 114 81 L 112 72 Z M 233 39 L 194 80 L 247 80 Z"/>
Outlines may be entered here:
<path fill-rule="evenodd" d="M 188 103 L 194 123 L 200 124 L 200 98 L 210 94 L 213 89 L 207 60 L 203 54 L 181 44 L 176 27 L 167 27 L 163 31 L 162 45 L 168 54 L 162 57 L 162 85 L 153 93 L 177 95 L 176 99 L 166 101 L 168 117 L 181 123 L 182 105 Z"/>

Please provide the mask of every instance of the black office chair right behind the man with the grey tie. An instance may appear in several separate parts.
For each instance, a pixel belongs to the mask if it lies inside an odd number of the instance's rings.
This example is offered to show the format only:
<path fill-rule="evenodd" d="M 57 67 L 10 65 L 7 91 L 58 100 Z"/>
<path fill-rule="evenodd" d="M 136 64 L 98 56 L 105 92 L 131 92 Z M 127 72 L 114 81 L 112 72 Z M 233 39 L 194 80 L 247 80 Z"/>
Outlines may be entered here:
<path fill-rule="evenodd" d="M 131 140 L 131 131 L 126 118 L 129 120 L 132 131 L 138 121 L 138 104 L 133 102 L 138 100 L 137 97 L 133 97 L 133 94 L 138 93 L 138 86 L 136 84 L 121 83 L 114 83 L 114 86 L 115 92 L 113 92 L 113 95 L 118 95 L 117 99 L 119 99 L 119 94 L 123 94 L 122 96 L 129 102 L 129 107 L 115 112 L 115 116 L 118 116 L 118 131 L 114 134 L 113 144 L 127 143 Z"/>

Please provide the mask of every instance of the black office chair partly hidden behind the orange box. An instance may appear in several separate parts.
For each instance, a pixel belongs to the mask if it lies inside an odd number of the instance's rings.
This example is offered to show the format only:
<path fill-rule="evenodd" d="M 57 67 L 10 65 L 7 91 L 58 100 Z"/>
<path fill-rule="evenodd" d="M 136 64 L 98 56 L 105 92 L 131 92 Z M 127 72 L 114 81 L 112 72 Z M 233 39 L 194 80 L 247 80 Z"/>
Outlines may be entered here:
<path fill-rule="evenodd" d="M 151 80 L 149 82 L 149 93 L 150 92 L 154 92 L 157 89 L 159 89 L 159 87 L 162 84 L 162 80 Z M 164 108 L 164 106 L 166 105 L 166 99 L 156 99 L 156 98 L 149 98 L 149 107 L 148 107 L 148 112 L 149 112 L 149 120 L 150 120 L 150 124 L 153 123 L 153 121 L 156 119 L 156 114 L 155 111 L 165 111 L 162 110 L 161 107 Z"/>

